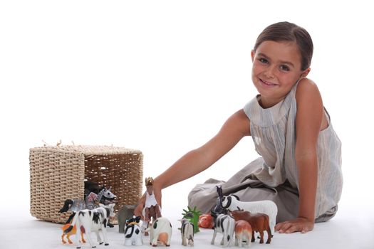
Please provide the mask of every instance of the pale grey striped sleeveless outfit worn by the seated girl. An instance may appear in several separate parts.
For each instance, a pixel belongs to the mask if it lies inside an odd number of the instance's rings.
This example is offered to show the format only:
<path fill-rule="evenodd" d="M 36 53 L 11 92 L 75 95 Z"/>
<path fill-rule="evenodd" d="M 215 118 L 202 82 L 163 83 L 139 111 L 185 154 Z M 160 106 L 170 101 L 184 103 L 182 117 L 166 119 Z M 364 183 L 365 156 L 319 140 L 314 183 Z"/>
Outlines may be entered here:
<path fill-rule="evenodd" d="M 209 179 L 195 186 L 188 196 L 189 206 L 209 212 L 216 203 L 215 186 L 222 185 L 224 195 L 237 194 L 241 201 L 274 201 L 279 209 L 277 222 L 298 216 L 298 170 L 294 157 L 297 85 L 273 107 L 262 108 L 259 96 L 244 106 L 251 120 L 251 137 L 261 157 L 226 182 Z M 329 124 L 318 135 L 317 144 L 316 222 L 327 221 L 335 215 L 343 186 L 341 141 L 327 112 L 326 115 Z"/>

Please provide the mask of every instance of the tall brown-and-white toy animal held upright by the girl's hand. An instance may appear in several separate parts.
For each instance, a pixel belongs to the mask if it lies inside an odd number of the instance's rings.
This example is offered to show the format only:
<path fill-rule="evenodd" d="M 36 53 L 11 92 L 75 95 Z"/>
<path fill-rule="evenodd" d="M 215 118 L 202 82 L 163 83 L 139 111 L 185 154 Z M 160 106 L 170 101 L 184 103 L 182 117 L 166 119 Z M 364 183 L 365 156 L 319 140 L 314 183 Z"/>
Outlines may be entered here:
<path fill-rule="evenodd" d="M 145 207 L 142 215 L 146 222 L 155 221 L 161 217 L 161 208 L 158 205 L 155 194 L 153 194 L 153 179 L 152 177 L 145 178 L 145 187 L 147 188 L 145 197 Z"/>

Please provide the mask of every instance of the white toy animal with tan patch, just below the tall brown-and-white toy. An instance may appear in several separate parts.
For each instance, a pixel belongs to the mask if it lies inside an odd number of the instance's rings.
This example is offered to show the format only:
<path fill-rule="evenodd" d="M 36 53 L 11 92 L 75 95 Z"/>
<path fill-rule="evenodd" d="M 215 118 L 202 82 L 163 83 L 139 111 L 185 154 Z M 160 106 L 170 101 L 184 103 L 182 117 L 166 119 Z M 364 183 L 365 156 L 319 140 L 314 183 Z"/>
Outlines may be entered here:
<path fill-rule="evenodd" d="M 160 217 L 147 228 L 150 233 L 150 245 L 157 246 L 158 243 L 166 246 L 170 246 L 170 240 L 172 238 L 172 224 L 167 218 Z"/>

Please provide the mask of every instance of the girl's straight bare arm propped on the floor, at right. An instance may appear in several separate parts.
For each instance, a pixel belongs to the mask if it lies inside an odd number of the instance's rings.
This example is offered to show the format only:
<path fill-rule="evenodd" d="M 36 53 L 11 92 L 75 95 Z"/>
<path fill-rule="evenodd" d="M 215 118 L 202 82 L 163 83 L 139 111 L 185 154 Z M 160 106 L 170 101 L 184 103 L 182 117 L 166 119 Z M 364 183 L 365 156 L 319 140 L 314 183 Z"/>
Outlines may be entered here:
<path fill-rule="evenodd" d="M 298 83 L 296 91 L 296 149 L 298 166 L 298 218 L 276 225 L 280 233 L 306 233 L 313 230 L 318 178 L 317 140 L 323 119 L 321 94 L 308 79 Z"/>

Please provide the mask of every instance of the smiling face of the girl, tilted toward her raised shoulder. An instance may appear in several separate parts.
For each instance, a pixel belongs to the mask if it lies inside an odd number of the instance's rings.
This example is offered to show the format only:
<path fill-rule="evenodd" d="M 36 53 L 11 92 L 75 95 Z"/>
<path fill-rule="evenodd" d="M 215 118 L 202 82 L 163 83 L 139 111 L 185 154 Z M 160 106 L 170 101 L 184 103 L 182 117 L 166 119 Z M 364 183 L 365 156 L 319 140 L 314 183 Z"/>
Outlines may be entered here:
<path fill-rule="evenodd" d="M 310 68 L 301 70 L 301 55 L 294 42 L 264 41 L 251 51 L 252 81 L 264 108 L 276 105 Z"/>

